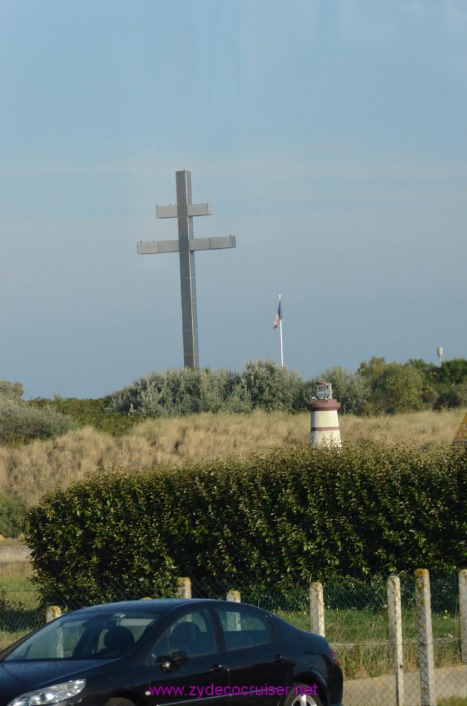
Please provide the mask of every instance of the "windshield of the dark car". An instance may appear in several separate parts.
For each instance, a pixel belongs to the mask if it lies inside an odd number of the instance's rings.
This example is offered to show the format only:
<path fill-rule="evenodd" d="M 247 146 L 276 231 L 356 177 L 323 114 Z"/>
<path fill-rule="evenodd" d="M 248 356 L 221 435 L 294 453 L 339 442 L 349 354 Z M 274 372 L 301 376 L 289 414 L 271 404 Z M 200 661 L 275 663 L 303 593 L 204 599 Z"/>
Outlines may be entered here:
<path fill-rule="evenodd" d="M 62 616 L 21 642 L 4 662 L 124 657 L 160 616 L 133 611 Z"/>

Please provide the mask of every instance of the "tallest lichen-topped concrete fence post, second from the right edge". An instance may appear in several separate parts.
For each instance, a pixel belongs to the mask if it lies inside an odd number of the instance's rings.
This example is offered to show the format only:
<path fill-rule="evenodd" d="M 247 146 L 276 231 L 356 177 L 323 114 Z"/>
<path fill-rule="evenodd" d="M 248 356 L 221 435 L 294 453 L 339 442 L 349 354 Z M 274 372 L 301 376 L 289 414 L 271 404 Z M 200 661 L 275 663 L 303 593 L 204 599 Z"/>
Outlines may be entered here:
<path fill-rule="evenodd" d="M 418 668 L 420 669 L 420 701 L 421 706 L 436 706 L 430 574 L 427 569 L 416 569 L 415 599 L 418 633 Z"/>

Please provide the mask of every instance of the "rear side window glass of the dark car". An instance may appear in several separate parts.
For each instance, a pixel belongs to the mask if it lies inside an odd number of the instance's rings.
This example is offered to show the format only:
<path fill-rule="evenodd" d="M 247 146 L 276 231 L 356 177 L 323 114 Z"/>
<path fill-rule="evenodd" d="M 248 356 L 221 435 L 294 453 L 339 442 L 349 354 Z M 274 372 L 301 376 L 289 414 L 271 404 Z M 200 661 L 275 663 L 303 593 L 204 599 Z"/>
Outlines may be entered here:
<path fill-rule="evenodd" d="M 266 616 L 239 608 L 218 608 L 227 650 L 265 645 L 272 639 Z"/>

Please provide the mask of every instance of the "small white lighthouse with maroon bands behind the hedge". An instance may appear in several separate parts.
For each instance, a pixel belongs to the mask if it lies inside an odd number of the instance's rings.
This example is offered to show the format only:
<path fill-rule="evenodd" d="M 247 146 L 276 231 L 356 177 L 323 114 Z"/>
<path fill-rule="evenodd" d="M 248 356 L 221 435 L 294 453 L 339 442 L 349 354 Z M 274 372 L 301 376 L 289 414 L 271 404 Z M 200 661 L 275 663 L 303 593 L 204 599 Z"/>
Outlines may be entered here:
<path fill-rule="evenodd" d="M 307 405 L 311 412 L 310 443 L 313 446 L 342 448 L 337 418 L 340 407 L 340 402 L 332 399 L 331 383 L 316 383 L 316 397 L 312 397 Z"/>

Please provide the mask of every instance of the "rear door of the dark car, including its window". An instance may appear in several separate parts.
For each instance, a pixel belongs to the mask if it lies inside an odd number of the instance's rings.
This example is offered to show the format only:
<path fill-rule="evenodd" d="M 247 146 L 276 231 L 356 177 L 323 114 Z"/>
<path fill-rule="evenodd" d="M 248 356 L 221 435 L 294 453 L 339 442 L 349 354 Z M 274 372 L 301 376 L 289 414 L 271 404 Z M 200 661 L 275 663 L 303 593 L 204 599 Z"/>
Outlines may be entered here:
<path fill-rule="evenodd" d="M 275 706 L 286 694 L 291 662 L 281 654 L 266 614 L 245 606 L 215 606 L 224 638 L 219 663 L 229 669 L 231 703 Z"/>

